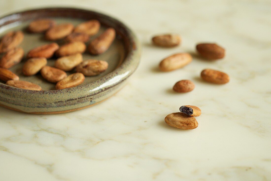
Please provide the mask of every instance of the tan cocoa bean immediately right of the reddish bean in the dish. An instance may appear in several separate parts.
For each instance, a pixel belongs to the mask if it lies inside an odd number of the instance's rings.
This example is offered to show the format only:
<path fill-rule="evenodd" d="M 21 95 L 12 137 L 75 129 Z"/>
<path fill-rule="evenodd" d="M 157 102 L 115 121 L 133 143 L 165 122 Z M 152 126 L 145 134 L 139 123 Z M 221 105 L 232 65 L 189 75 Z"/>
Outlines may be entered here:
<path fill-rule="evenodd" d="M 60 46 L 56 51 L 56 56 L 63 57 L 67 55 L 83 53 L 86 50 L 86 45 L 83 42 L 72 42 L 67 43 L 66 45 Z"/>

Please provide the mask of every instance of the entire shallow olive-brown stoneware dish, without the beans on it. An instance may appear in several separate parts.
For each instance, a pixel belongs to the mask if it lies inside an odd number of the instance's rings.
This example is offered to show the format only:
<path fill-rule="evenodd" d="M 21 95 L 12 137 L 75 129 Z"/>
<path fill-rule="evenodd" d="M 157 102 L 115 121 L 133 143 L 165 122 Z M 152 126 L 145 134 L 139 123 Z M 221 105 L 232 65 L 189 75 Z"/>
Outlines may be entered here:
<path fill-rule="evenodd" d="M 12 110 L 33 114 L 55 114 L 75 111 L 97 104 L 114 95 L 123 82 L 135 71 L 140 61 L 140 47 L 134 33 L 120 21 L 107 15 L 89 10 L 75 8 L 45 8 L 14 13 L 0 18 L 0 36 L 11 30 L 22 30 L 24 40 L 20 47 L 27 53 L 30 49 L 50 43 L 43 34 L 30 34 L 25 30 L 28 24 L 39 18 L 51 18 L 57 23 L 71 22 L 75 26 L 86 20 L 96 19 L 101 23 L 99 33 L 105 28 L 113 27 L 117 36 L 110 48 L 99 56 L 83 54 L 83 59 L 94 58 L 108 62 L 108 69 L 98 76 L 86 77 L 82 85 L 54 90 L 55 84 L 46 82 L 40 74 L 23 76 L 21 68 L 26 59 L 10 68 L 20 80 L 40 85 L 43 91 L 19 89 L 0 83 L 0 105 Z M 90 41 L 91 41 L 90 40 Z M 62 45 L 63 42 L 57 42 Z M 88 43 L 87 43 L 88 45 Z M 56 58 L 49 59 L 53 66 Z M 70 74 L 70 73 L 67 73 Z"/>

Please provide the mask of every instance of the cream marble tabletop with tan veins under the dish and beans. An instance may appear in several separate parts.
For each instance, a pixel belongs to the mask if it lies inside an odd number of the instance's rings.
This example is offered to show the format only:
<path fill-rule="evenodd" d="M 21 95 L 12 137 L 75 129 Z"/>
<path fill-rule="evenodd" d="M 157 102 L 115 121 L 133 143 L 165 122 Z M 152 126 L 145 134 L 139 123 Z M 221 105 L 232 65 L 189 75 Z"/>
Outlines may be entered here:
<path fill-rule="evenodd" d="M 114 97 L 85 110 L 29 115 L 0 108 L 0 180 L 271 180 L 271 2 L 180 0 L 4 0 L 1 15 L 26 8 L 76 6 L 128 24 L 143 45 L 138 70 Z M 174 32 L 180 47 L 156 48 L 153 34 Z M 227 55 L 209 62 L 197 42 L 217 42 Z M 183 69 L 162 73 L 159 61 L 193 53 Z M 230 83 L 202 82 L 200 71 L 227 72 Z M 174 93 L 190 79 L 194 91 Z M 181 105 L 202 109 L 195 130 L 164 117 Z"/>

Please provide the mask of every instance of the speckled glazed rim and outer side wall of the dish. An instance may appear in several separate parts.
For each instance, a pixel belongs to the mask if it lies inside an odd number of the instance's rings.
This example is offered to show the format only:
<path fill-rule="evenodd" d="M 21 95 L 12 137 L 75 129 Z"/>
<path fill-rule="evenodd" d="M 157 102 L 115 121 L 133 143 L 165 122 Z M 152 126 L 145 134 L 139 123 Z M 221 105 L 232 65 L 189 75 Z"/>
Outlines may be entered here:
<path fill-rule="evenodd" d="M 121 65 L 98 80 L 73 88 L 48 91 L 18 89 L 0 83 L 0 104 L 16 111 L 34 114 L 55 114 L 95 105 L 121 89 L 140 61 L 139 43 L 131 30 L 120 21 L 94 11 L 74 8 L 46 8 L 14 13 L 0 18 L 0 28 L 37 18 L 97 19 L 104 27 L 113 27 L 125 51 Z M 105 52 L 106 54 L 106 52 Z"/>

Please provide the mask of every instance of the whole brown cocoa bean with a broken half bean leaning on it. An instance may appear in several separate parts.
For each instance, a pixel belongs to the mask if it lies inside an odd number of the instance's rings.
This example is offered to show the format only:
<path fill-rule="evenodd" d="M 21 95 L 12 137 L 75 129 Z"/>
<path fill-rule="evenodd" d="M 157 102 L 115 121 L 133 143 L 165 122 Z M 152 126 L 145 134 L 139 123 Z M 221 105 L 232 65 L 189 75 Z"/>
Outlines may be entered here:
<path fill-rule="evenodd" d="M 180 129 L 195 129 L 198 127 L 198 121 L 195 117 L 183 113 L 171 113 L 165 117 L 165 122 Z"/>

